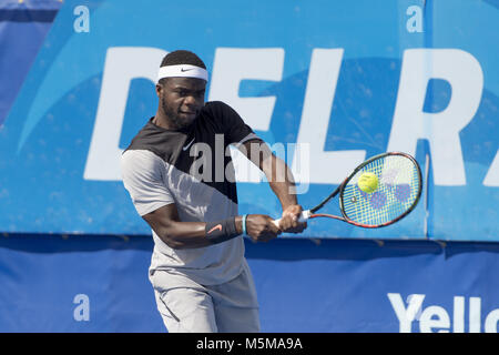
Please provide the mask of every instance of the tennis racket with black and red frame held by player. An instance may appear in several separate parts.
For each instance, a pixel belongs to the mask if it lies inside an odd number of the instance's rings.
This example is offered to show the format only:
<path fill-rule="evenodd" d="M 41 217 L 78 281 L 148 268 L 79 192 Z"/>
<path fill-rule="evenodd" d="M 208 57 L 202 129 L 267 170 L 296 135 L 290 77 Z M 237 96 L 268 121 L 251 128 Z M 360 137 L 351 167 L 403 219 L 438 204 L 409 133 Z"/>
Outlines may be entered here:
<path fill-rule="evenodd" d="M 359 178 L 365 173 L 377 178 L 377 189 L 369 193 L 359 187 Z M 365 229 L 387 226 L 400 221 L 416 207 L 421 190 L 421 170 L 413 156 L 400 152 L 383 153 L 358 165 L 323 202 L 303 211 L 298 222 L 328 217 Z M 342 216 L 317 213 L 338 194 Z M 278 226 L 279 221 L 275 220 L 274 223 Z"/>

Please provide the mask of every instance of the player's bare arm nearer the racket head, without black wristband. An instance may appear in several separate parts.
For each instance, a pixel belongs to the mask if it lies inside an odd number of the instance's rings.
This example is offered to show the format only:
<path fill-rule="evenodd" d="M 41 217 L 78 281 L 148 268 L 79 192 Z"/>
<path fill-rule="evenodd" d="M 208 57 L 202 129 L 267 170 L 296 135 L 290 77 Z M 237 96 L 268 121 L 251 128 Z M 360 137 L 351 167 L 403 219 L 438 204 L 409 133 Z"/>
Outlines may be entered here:
<path fill-rule="evenodd" d="M 272 153 L 268 145 L 259 139 L 244 142 L 240 151 L 264 172 L 272 191 L 279 200 L 283 209 L 281 230 L 302 233 L 306 223 L 297 222 L 302 206 L 298 204 L 293 173 L 287 164 Z"/>

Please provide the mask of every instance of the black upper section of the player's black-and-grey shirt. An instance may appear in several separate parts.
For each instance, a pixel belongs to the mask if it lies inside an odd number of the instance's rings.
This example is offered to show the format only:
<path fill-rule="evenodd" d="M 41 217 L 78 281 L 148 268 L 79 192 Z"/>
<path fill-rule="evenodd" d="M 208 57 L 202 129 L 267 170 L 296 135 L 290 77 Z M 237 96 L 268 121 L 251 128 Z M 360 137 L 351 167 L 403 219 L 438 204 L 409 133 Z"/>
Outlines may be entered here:
<path fill-rule="evenodd" d="M 187 129 L 166 130 L 151 118 L 125 150 L 147 150 L 177 170 L 215 187 L 237 203 L 230 144 L 257 139 L 230 105 L 206 102 Z M 195 164 L 194 164 L 195 162 Z"/>

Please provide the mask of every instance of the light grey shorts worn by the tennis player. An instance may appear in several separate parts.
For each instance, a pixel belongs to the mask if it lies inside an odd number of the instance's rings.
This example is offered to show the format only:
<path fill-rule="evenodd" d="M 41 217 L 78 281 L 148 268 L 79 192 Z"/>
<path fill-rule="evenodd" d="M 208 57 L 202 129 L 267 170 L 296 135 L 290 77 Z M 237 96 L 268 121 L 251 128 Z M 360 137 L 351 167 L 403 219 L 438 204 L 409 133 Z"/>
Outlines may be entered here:
<path fill-rule="evenodd" d="M 157 311 L 170 333 L 259 332 L 258 302 L 249 267 L 220 285 L 200 285 L 183 275 L 150 275 Z"/>

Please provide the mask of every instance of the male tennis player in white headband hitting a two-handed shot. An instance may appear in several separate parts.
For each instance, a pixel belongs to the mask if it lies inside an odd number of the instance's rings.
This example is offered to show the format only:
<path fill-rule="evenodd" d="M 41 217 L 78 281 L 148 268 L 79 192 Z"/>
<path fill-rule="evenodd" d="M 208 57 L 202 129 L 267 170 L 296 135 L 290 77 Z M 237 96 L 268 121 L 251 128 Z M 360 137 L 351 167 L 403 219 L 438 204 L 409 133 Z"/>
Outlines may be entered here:
<path fill-rule="evenodd" d="M 302 206 L 286 164 L 233 109 L 204 102 L 206 82 L 196 54 L 181 50 L 163 59 L 157 112 L 123 153 L 123 183 L 152 229 L 149 275 L 167 331 L 258 332 L 241 236 L 267 242 L 306 224 L 297 222 Z M 265 173 L 283 207 L 278 227 L 268 215 L 238 215 L 230 144 Z"/>

